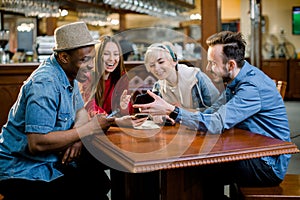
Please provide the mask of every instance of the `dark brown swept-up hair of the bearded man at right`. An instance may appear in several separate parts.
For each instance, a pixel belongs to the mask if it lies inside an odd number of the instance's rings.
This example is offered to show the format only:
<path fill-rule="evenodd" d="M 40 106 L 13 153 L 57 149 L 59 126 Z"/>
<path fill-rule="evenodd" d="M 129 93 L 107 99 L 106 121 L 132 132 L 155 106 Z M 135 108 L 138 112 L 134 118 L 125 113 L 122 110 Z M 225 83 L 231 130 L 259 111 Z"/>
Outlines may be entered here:
<path fill-rule="evenodd" d="M 233 59 L 239 68 L 244 64 L 246 41 L 240 32 L 222 31 L 210 36 L 206 44 L 212 47 L 217 44 L 223 45 L 223 63 Z"/>

